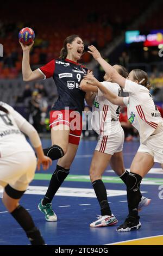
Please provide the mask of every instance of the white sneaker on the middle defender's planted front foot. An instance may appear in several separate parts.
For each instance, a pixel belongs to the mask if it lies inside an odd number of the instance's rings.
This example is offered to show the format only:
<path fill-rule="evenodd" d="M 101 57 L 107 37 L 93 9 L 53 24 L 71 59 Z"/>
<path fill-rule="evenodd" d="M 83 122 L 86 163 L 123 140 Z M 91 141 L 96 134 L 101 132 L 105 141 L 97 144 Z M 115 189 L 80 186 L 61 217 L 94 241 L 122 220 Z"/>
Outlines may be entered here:
<path fill-rule="evenodd" d="M 116 220 L 116 217 L 112 214 L 99 216 L 97 217 L 97 221 L 94 221 L 90 224 L 90 227 L 96 228 L 96 227 L 105 227 L 105 226 L 111 226 L 116 224 L 118 221 Z"/>

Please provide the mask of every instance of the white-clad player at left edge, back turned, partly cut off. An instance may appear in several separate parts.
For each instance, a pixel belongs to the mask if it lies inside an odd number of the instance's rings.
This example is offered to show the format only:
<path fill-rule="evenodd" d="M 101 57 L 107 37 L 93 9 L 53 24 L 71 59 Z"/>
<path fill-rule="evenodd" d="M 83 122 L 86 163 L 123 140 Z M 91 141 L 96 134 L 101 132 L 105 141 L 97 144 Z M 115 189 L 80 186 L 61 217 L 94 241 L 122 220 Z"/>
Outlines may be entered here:
<path fill-rule="evenodd" d="M 26 141 L 28 135 L 35 148 Z M 52 160 L 43 154 L 38 133 L 14 108 L 0 102 L 0 186 L 4 187 L 3 204 L 21 225 L 32 245 L 45 245 L 39 229 L 20 204 L 20 198 L 33 180 L 36 166 L 49 167 Z"/>

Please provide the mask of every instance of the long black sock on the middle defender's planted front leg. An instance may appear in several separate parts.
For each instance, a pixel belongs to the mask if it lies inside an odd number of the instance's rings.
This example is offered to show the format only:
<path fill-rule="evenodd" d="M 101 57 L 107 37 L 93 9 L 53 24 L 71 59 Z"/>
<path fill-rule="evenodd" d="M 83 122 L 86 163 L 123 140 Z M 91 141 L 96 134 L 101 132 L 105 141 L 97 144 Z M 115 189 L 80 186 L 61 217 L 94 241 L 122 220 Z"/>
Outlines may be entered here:
<path fill-rule="evenodd" d="M 108 203 L 106 188 L 102 180 L 95 180 L 92 182 L 92 186 L 95 190 L 96 197 L 99 205 L 101 206 L 101 215 L 111 216 L 111 210 Z"/>

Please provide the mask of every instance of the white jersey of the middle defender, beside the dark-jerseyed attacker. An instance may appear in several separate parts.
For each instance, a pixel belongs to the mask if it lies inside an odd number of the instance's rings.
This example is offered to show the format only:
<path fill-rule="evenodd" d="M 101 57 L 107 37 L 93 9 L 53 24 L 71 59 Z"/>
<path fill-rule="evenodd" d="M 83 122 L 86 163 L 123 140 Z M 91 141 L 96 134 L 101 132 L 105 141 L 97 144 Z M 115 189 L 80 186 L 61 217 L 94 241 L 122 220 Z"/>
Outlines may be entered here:
<path fill-rule="evenodd" d="M 104 81 L 102 84 L 117 96 L 120 94 L 121 88 L 117 83 Z M 93 130 L 101 136 L 109 136 L 110 134 L 114 135 L 117 132 L 121 132 L 122 127 L 119 115 L 120 106 L 112 104 L 98 89 L 92 107 L 91 123 Z"/>

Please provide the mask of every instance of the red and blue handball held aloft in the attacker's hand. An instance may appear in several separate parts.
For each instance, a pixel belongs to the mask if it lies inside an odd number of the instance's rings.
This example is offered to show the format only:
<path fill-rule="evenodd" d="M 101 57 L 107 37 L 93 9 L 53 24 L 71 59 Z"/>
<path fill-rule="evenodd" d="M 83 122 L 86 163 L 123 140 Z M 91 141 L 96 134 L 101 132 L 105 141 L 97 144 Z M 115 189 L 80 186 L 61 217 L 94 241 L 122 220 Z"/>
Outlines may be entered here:
<path fill-rule="evenodd" d="M 21 31 L 18 33 L 18 39 L 24 45 L 32 44 L 35 38 L 35 33 L 32 28 L 22 28 Z"/>

